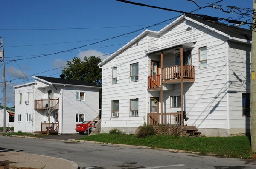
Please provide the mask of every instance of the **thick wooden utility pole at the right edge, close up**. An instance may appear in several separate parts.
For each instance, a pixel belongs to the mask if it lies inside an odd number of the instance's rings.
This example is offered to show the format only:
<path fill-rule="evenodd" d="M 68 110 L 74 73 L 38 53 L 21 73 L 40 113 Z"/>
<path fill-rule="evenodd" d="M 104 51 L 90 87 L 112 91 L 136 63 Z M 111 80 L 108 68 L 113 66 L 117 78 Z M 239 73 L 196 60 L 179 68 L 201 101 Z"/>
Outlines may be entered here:
<path fill-rule="evenodd" d="M 255 22 L 256 17 L 256 0 L 253 0 L 253 23 Z M 251 144 L 252 152 L 256 152 L 256 80 L 255 80 L 255 71 L 256 71 L 256 25 L 252 25 L 252 52 L 251 52 L 251 86 L 250 86 L 250 99 L 251 99 Z"/>

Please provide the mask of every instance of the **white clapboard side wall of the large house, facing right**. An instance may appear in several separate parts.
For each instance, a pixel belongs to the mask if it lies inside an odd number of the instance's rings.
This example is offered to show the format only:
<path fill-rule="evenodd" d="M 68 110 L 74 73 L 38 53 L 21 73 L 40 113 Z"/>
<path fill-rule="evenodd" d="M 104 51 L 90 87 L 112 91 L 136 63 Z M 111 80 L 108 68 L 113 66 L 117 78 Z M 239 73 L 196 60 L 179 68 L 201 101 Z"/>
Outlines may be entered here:
<path fill-rule="evenodd" d="M 242 93 L 250 93 L 251 45 L 231 41 L 228 45 L 230 129 L 248 129 L 250 117 L 242 115 Z"/>

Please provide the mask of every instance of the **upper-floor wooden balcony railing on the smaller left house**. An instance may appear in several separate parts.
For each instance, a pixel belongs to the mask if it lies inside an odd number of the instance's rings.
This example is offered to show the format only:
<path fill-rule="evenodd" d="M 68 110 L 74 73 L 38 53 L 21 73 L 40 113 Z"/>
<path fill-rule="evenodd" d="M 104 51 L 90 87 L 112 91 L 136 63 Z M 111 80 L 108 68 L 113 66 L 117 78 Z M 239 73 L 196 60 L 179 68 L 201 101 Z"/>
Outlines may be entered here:
<path fill-rule="evenodd" d="M 35 100 L 35 110 L 45 110 L 47 106 L 49 109 L 59 109 L 60 99 Z"/>

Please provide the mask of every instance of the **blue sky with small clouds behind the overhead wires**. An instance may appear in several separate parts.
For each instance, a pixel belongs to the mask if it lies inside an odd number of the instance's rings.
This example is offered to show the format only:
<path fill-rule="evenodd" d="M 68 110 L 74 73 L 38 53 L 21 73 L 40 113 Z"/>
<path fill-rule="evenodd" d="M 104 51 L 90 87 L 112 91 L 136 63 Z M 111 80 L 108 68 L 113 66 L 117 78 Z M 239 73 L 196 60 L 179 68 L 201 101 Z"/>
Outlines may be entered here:
<path fill-rule="evenodd" d="M 186 0 L 133 1 L 187 12 L 198 8 L 194 3 Z M 200 1 L 214 3 L 217 0 Z M 251 1 L 252 0 L 224 0 L 219 4 L 251 8 Z M 198 5 L 205 6 L 206 4 L 198 3 Z M 1 18 L 0 29 L 94 28 L 79 30 L 0 30 L 0 36 L 2 36 L 4 39 L 5 59 L 28 58 L 31 57 L 29 55 L 49 54 L 76 48 L 82 45 L 97 42 L 100 39 L 114 37 L 145 27 L 141 25 L 159 23 L 163 20 L 167 20 L 179 15 L 179 13 L 175 12 L 163 11 L 142 6 L 134 6 L 113 0 L 6 0 L 1 1 L 0 6 L 1 13 L 3 14 L 3 17 Z M 197 11 L 196 13 L 224 18 L 238 16 L 238 14 L 226 14 L 213 8 L 204 8 Z M 242 20 L 249 18 L 250 17 L 247 17 Z M 150 29 L 159 31 L 166 24 L 158 25 Z M 116 26 L 131 27 L 95 28 Z M 80 48 L 81 51 L 75 50 L 36 59 L 21 60 L 17 61 L 17 63 L 26 75 L 33 75 L 35 73 L 40 73 L 64 66 L 66 60 L 70 60 L 76 56 L 83 58 L 84 56 L 101 56 L 104 54 L 112 53 L 141 32 L 142 31 L 135 34 L 129 34 L 126 37 L 120 37 L 96 45 Z M 42 45 L 49 43 L 59 44 Z M 104 59 L 104 57 L 102 57 L 102 59 Z M 7 62 L 8 61 L 6 60 L 6 63 Z M 24 74 L 18 68 L 17 63 L 11 62 L 6 65 L 6 81 L 24 76 Z M 52 75 L 52 77 L 59 77 L 60 74 L 61 68 L 45 73 L 40 73 L 38 75 Z M 29 76 L 28 78 L 33 80 L 32 76 Z M 24 83 L 23 81 L 25 83 L 29 82 L 26 78 L 7 82 L 8 106 L 14 105 L 14 90 L 12 87 L 14 85 Z M 2 90 L 2 87 L 0 87 L 0 89 Z M 0 101 L 3 104 L 3 93 L 0 93 Z"/>

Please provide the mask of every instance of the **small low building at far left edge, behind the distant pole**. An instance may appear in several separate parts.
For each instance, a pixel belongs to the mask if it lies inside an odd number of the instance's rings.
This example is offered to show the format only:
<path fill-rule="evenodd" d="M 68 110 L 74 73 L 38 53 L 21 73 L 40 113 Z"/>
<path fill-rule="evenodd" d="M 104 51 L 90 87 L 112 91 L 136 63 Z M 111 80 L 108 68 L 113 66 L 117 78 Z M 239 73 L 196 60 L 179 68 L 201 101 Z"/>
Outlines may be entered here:
<path fill-rule="evenodd" d="M 0 109 L 0 127 L 3 127 L 3 106 Z M 14 109 L 6 107 L 6 127 L 14 127 Z"/>

